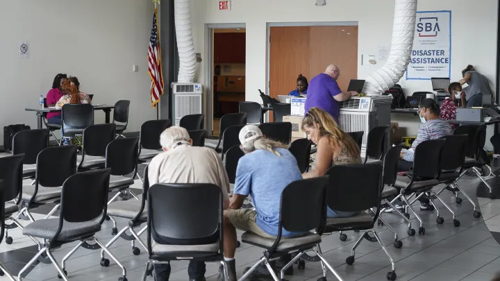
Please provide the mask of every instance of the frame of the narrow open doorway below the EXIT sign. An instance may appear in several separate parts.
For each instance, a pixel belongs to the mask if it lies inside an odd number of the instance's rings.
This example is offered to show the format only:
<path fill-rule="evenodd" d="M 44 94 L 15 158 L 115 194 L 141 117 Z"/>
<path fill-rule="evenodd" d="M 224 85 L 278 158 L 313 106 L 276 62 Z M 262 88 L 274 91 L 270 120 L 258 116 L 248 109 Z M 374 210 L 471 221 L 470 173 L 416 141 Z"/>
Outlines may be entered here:
<path fill-rule="evenodd" d="M 205 92 L 206 92 L 206 102 L 205 102 L 205 116 L 206 116 L 206 127 L 208 135 L 212 135 L 213 131 L 213 31 L 214 29 L 224 29 L 224 28 L 247 28 L 244 23 L 233 23 L 233 24 L 205 24 Z M 245 31 L 246 33 L 246 31 Z M 245 55 L 245 62 L 247 61 Z"/>

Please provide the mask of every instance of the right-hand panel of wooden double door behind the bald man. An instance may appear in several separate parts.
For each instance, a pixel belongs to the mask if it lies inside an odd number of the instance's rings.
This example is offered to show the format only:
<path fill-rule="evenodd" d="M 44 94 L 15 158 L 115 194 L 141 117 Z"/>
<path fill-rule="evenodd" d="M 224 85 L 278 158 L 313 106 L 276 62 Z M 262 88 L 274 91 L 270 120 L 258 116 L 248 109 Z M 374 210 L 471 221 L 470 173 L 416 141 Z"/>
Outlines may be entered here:
<path fill-rule="evenodd" d="M 340 90 L 358 78 L 358 26 L 310 26 L 309 52 L 309 80 L 331 64 L 340 68 Z"/>

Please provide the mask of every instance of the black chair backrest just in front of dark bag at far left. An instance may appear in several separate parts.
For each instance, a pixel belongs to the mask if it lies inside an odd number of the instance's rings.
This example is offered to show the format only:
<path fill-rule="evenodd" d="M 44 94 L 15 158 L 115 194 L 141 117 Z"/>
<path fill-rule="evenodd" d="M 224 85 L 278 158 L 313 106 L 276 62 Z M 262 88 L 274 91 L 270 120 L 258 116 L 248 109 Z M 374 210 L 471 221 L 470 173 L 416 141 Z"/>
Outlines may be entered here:
<path fill-rule="evenodd" d="M 24 154 L 24 164 L 35 164 L 40 151 L 49 147 L 49 129 L 22 130 L 12 139 L 12 154 Z"/>

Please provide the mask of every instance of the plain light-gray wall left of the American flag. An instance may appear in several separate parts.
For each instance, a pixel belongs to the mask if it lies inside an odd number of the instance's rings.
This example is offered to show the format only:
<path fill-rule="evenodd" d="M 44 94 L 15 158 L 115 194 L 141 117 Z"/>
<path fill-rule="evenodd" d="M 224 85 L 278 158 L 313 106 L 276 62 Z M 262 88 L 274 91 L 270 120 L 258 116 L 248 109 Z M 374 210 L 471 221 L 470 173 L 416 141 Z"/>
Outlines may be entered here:
<path fill-rule="evenodd" d="M 24 108 L 37 107 L 53 77 L 66 73 L 94 103 L 130 100 L 128 131 L 138 131 L 156 118 L 147 74 L 152 21 L 149 0 L 0 0 L 0 127 L 36 128 L 35 112 Z M 18 58 L 22 41 L 29 42 L 28 59 Z M 103 122 L 102 111 L 95 116 Z"/>

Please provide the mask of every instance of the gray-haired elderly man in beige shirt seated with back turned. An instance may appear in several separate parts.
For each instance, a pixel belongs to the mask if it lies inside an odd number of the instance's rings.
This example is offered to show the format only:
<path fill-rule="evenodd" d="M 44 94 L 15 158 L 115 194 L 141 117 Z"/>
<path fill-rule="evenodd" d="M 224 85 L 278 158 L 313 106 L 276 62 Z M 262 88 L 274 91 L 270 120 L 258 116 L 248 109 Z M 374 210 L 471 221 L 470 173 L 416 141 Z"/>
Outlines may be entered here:
<path fill-rule="evenodd" d="M 224 207 L 228 206 L 229 179 L 217 152 L 211 148 L 192 146 L 188 131 L 181 127 L 170 127 L 163 131 L 160 135 L 160 144 L 164 152 L 156 155 L 149 164 L 149 185 L 162 182 L 212 183 L 221 187 Z M 193 194 L 194 196 L 196 194 Z M 218 235 L 214 239 L 217 241 Z M 215 241 L 199 241 L 199 244 L 210 244 Z M 187 241 L 174 239 L 165 243 L 183 245 Z M 204 262 L 190 262 L 188 267 L 190 281 L 204 281 L 205 272 Z M 156 281 L 167 281 L 169 275 L 170 264 L 155 265 Z"/>

